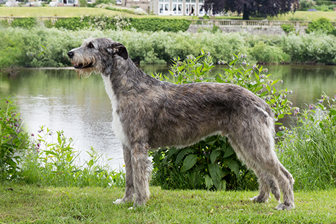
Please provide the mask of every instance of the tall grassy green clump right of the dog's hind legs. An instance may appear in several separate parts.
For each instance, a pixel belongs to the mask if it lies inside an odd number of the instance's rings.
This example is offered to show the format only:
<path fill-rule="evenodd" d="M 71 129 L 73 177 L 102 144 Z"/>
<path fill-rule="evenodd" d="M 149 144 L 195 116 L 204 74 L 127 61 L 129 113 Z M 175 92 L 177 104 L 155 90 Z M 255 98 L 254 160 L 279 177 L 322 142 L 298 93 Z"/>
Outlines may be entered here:
<path fill-rule="evenodd" d="M 335 188 L 336 96 L 330 99 L 323 94 L 308 110 L 297 111 L 296 117 L 297 127 L 286 130 L 277 149 L 282 164 L 295 178 L 294 188 Z"/>

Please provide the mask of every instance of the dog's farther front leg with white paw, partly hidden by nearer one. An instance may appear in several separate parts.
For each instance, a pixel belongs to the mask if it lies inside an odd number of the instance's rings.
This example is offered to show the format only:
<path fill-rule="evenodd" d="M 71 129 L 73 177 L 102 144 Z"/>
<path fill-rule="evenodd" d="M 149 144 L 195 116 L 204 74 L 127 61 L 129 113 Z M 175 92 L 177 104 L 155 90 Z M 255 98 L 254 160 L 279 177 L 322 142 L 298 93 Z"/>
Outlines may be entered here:
<path fill-rule="evenodd" d="M 118 199 L 114 204 L 120 204 L 125 202 L 131 202 L 134 198 L 134 183 L 133 183 L 133 167 L 132 167 L 132 152 L 130 148 L 123 145 L 123 154 L 124 154 L 124 162 L 126 169 L 126 190 L 125 196 L 123 199 Z"/>

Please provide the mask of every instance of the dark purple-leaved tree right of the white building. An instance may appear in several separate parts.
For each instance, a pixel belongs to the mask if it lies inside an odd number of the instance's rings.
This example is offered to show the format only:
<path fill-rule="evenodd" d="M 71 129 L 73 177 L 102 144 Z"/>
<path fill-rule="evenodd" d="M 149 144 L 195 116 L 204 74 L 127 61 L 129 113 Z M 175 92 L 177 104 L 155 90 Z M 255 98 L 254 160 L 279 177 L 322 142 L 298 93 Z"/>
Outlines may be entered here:
<path fill-rule="evenodd" d="M 206 0 L 204 9 L 212 13 L 232 11 L 243 13 L 243 20 L 248 20 L 251 15 L 267 17 L 276 16 L 289 11 L 295 11 L 300 6 L 300 0 Z"/>

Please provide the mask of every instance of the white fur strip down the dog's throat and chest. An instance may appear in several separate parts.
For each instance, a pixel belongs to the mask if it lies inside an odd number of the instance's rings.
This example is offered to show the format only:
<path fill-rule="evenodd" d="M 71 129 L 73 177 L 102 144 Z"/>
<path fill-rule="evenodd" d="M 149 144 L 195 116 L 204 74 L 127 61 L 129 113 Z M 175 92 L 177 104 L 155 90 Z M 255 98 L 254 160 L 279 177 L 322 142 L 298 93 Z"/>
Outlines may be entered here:
<path fill-rule="evenodd" d="M 105 83 L 105 90 L 111 99 L 112 116 L 113 116 L 112 128 L 113 128 L 114 134 L 116 134 L 116 137 L 119 141 L 121 141 L 123 144 L 127 144 L 127 138 L 123 130 L 123 125 L 120 121 L 120 116 L 116 112 L 118 108 L 118 100 L 117 100 L 116 94 L 114 94 L 114 91 L 112 89 L 111 80 L 109 77 L 106 77 L 104 75 L 102 75 L 102 78 Z"/>

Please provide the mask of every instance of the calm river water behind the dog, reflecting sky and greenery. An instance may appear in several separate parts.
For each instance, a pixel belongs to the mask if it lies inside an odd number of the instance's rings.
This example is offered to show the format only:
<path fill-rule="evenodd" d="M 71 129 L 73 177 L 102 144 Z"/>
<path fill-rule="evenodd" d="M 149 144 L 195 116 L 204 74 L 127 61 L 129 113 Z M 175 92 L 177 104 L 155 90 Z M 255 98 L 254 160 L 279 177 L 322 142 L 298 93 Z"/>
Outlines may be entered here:
<path fill-rule="evenodd" d="M 336 66 L 266 66 L 272 78 L 281 78 L 279 89 L 293 90 L 288 98 L 294 106 L 315 103 L 324 91 L 336 94 Z M 214 73 L 221 71 L 216 66 Z M 167 66 L 141 66 L 146 73 L 162 72 L 169 75 Z M 121 145 L 111 129 L 111 102 L 105 92 L 101 76 L 80 79 L 73 69 L 22 69 L 0 72 L 0 98 L 15 93 L 20 103 L 25 127 L 36 133 L 41 125 L 52 130 L 64 130 L 66 137 L 76 140 L 75 148 L 85 153 L 93 146 L 113 158 L 113 169 L 123 165 Z M 0 105 L 3 106 L 3 105 Z"/>

